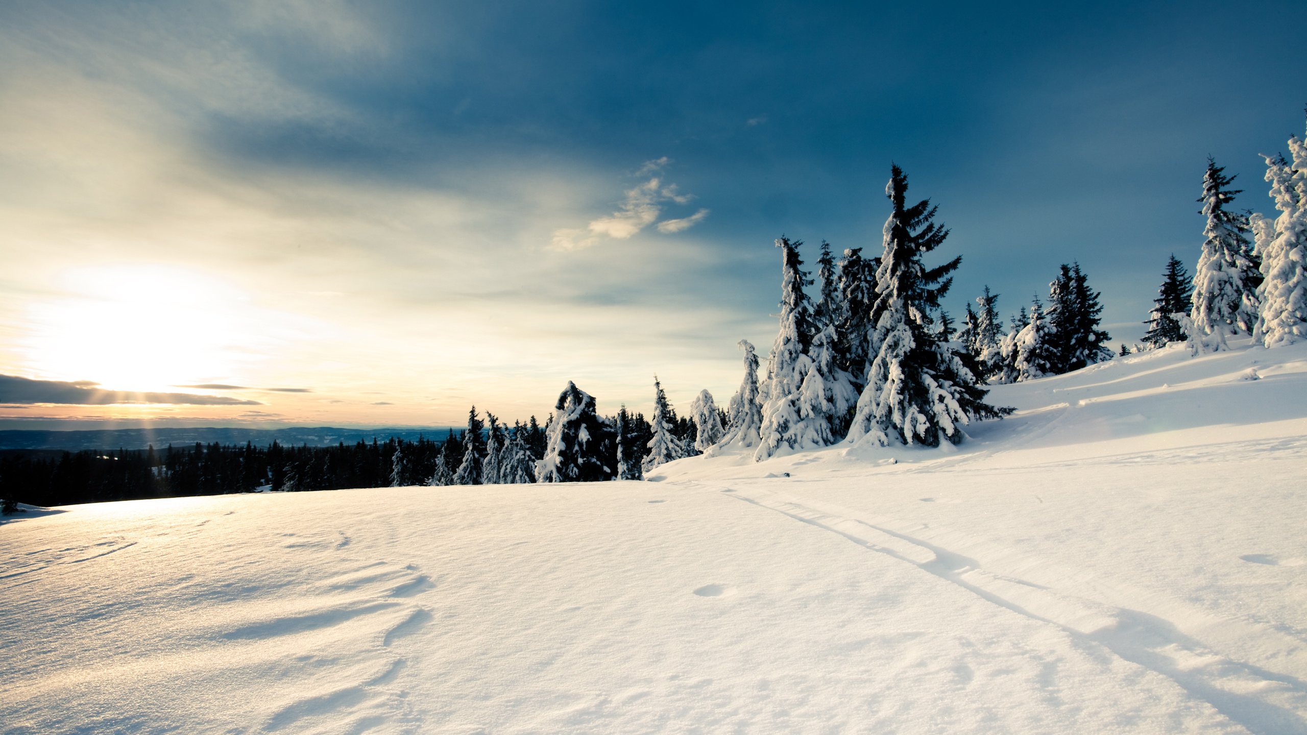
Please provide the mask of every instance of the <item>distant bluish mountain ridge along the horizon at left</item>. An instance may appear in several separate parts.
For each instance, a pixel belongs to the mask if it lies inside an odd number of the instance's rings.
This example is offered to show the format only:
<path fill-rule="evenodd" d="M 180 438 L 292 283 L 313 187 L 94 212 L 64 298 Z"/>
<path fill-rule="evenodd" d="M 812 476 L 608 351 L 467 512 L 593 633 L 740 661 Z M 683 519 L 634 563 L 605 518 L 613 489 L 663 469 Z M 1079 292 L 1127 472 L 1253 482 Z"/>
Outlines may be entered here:
<path fill-rule="evenodd" d="M 459 426 L 454 428 L 459 430 Z M 282 445 L 308 445 L 331 446 L 340 442 L 348 445 L 365 441 L 379 442 L 395 437 L 405 441 L 416 441 L 420 436 L 426 438 L 444 438 L 450 426 L 406 426 L 387 429 L 341 429 L 336 426 L 293 426 L 289 429 L 244 429 L 244 428 L 133 428 L 133 429 L 78 429 L 78 430 L 52 430 L 52 429 L 3 429 L 0 430 L 0 449 L 55 449 L 78 451 L 84 449 L 145 449 L 154 445 L 162 449 L 167 445 L 193 445 L 213 443 L 243 445 L 251 442 L 257 446 L 268 446 L 272 442 Z"/>

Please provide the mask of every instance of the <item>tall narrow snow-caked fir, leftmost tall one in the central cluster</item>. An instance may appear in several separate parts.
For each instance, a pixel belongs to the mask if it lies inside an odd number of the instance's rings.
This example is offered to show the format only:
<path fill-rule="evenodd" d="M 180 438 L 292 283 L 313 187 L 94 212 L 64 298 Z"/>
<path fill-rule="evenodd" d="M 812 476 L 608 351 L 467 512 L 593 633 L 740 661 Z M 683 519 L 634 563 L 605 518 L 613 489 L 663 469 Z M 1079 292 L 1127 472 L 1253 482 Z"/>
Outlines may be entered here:
<path fill-rule="evenodd" d="M 831 443 L 831 424 L 840 415 L 833 400 L 839 395 L 839 375 L 834 374 L 834 330 L 818 330 L 804 286 L 810 281 L 800 268 L 800 242 L 779 238 L 780 248 L 780 330 L 767 362 L 767 385 L 762 391 L 761 442 L 753 458 L 758 462 L 778 454 L 818 449 Z M 813 335 L 823 362 L 809 354 Z M 822 369 L 830 373 L 822 374 Z M 844 407 L 847 411 L 847 407 Z M 646 471 L 648 471 L 646 468 Z"/>

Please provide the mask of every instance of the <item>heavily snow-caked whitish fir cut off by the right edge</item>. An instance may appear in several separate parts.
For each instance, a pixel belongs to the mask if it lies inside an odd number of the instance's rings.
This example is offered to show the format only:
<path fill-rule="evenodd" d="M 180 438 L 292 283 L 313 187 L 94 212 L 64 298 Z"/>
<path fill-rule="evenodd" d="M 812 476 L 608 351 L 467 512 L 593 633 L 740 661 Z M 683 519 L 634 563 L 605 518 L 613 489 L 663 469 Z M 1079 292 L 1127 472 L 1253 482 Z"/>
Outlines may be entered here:
<path fill-rule="evenodd" d="M 1263 156 L 1280 216 L 1256 217 L 1253 226 L 1264 277 L 1255 336 L 1266 347 L 1307 339 L 1307 143 L 1290 136 L 1289 153 L 1293 165 Z"/>

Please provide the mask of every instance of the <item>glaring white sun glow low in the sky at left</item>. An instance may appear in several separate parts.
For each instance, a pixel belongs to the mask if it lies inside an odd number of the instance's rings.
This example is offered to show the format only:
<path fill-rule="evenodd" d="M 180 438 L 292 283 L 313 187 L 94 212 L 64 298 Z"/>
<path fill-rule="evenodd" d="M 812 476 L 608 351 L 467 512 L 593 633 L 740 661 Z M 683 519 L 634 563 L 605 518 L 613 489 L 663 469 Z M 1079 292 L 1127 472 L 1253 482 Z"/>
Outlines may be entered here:
<path fill-rule="evenodd" d="M 248 298 L 201 273 L 161 265 L 78 268 L 64 296 L 30 307 L 27 356 L 43 378 L 167 391 L 229 375 Z"/>

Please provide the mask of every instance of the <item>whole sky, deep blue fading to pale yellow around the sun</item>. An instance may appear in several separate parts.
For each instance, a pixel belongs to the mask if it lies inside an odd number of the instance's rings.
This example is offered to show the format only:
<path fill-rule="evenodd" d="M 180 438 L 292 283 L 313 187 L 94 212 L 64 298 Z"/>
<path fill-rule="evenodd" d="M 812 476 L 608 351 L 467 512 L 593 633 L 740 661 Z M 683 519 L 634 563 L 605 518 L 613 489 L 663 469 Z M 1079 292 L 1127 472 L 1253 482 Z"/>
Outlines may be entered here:
<path fill-rule="evenodd" d="M 51 3 L 0 9 L 0 374 L 289 386 L 30 425 L 673 402 L 774 333 L 780 234 L 880 248 L 890 162 L 1010 313 L 1115 340 L 1192 267 L 1206 156 L 1268 211 L 1302 3 Z M 656 182 L 655 182 L 656 179 Z M 814 259 L 816 247 L 808 250 Z M 124 348 L 99 322 L 149 323 Z M 271 388 L 268 388 L 271 391 Z M 257 404 L 251 408 L 250 403 Z M 208 402 L 213 403 L 213 402 Z M 221 403 L 221 402 L 220 402 Z M 24 417 L 29 417 L 26 421 Z"/>

